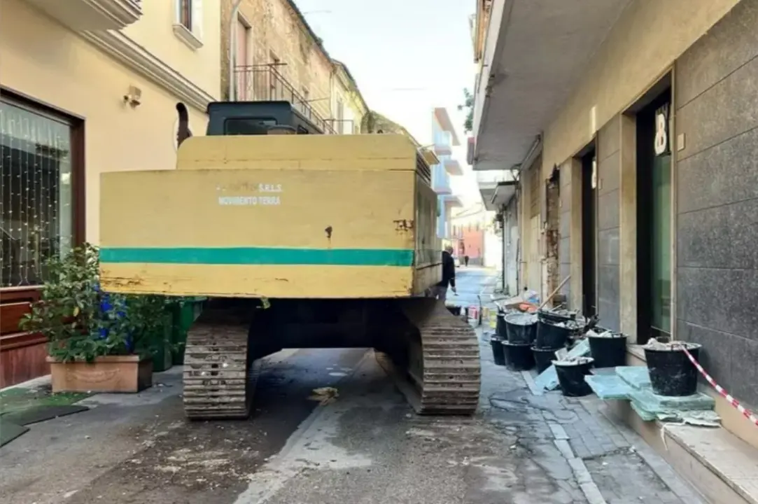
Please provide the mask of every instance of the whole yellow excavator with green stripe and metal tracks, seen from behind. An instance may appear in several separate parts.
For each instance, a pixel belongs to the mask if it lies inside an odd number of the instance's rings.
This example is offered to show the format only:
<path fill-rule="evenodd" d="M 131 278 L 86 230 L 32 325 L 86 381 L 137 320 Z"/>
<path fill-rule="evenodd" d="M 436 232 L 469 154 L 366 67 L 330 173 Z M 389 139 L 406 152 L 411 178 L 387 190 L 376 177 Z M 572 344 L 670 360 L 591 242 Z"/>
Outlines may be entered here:
<path fill-rule="evenodd" d="M 191 136 L 177 109 L 176 170 L 102 174 L 100 268 L 109 292 L 208 298 L 186 416 L 247 418 L 261 359 L 287 348 L 373 348 L 419 414 L 473 414 L 478 341 L 428 297 L 437 196 L 412 141 L 321 134 L 289 102 L 211 103 Z"/>

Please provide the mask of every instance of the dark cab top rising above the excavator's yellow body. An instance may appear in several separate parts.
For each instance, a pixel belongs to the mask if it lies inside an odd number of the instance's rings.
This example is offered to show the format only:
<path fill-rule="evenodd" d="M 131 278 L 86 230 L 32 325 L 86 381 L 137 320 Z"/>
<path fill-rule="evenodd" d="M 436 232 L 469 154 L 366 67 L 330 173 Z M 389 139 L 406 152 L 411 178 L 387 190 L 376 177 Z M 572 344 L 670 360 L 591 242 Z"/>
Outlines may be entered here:
<path fill-rule="evenodd" d="M 324 133 L 290 102 L 211 102 L 208 136 L 266 135 L 272 126 L 289 126 L 299 135 Z"/>

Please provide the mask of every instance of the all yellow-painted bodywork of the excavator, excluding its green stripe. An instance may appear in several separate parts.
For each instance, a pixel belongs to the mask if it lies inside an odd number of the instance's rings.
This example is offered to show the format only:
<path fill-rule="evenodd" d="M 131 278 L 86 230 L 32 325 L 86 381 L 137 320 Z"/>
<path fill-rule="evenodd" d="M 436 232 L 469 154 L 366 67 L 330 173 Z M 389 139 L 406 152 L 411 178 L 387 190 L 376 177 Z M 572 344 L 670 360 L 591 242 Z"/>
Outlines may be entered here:
<path fill-rule="evenodd" d="M 104 247 L 287 247 L 431 251 L 409 267 L 102 266 L 108 290 L 204 296 L 397 297 L 440 280 L 436 196 L 404 136 L 207 136 L 171 171 L 102 174 Z M 259 184 L 275 193 L 262 193 Z M 276 205 L 221 205 L 227 196 Z M 398 221 L 411 223 L 399 228 Z M 331 236 L 326 233 L 331 228 Z"/>

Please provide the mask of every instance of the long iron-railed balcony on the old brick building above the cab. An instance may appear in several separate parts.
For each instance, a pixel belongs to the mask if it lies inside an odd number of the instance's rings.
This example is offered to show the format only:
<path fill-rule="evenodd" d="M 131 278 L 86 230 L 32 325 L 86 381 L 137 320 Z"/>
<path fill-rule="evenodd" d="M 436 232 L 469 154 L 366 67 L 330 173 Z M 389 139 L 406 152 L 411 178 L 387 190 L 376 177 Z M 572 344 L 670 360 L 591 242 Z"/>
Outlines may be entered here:
<path fill-rule="evenodd" d="M 236 99 L 243 102 L 290 102 L 306 119 L 328 134 L 337 131 L 330 121 L 321 117 L 308 99 L 296 91 L 295 86 L 281 74 L 281 64 L 253 64 L 234 69 Z"/>

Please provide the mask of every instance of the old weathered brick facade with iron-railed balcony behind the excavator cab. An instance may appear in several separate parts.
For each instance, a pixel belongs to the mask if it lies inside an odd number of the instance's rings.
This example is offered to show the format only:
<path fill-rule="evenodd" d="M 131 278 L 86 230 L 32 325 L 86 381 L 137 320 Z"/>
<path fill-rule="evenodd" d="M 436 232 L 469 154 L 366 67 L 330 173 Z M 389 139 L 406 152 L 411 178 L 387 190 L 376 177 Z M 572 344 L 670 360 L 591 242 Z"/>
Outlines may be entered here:
<path fill-rule="evenodd" d="M 221 0 L 224 97 L 287 101 L 324 133 L 360 133 L 368 107 L 356 81 L 330 58 L 295 2 L 242 0 L 234 14 L 236 4 Z"/>

